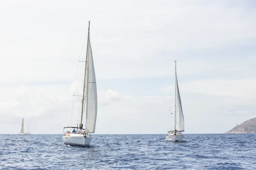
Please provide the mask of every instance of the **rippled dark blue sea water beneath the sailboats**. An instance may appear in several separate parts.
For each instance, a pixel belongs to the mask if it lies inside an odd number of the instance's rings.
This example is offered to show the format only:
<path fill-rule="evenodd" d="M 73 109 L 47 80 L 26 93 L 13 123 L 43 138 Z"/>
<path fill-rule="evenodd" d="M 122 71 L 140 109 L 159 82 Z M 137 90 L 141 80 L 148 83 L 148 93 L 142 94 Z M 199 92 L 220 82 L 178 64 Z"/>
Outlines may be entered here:
<path fill-rule="evenodd" d="M 61 135 L 0 135 L 1 170 L 256 170 L 255 134 L 93 135 L 90 147 Z"/>

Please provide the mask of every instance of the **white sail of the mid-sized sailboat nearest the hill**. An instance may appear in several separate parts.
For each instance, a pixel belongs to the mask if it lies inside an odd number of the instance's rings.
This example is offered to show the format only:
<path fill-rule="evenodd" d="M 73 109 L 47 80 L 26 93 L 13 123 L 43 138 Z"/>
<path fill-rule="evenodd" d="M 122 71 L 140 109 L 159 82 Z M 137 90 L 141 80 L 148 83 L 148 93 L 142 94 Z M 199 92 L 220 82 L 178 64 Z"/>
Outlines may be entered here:
<path fill-rule="evenodd" d="M 176 73 L 175 73 L 176 74 Z M 175 113 L 175 116 L 176 116 L 176 130 L 178 132 L 184 132 L 184 116 L 183 116 L 183 112 L 182 112 L 182 106 L 181 106 L 181 99 L 180 99 L 180 91 L 179 91 L 179 86 L 178 86 L 178 81 L 177 81 L 177 74 L 175 75 L 176 76 L 176 83 L 175 83 L 175 86 L 176 86 L 176 113 Z"/>

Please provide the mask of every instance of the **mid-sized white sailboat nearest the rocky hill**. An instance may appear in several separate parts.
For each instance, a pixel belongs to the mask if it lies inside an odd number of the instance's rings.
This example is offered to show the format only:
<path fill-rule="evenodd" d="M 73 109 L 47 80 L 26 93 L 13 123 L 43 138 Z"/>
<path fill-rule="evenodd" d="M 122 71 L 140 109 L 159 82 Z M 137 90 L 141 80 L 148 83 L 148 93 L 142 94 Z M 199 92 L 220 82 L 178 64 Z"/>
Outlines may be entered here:
<path fill-rule="evenodd" d="M 170 141 L 182 141 L 184 135 L 181 132 L 184 132 L 184 116 L 181 106 L 180 91 L 177 81 L 177 72 L 176 72 L 176 60 L 175 60 L 175 124 L 174 130 L 169 130 L 166 134 L 166 140 Z"/>

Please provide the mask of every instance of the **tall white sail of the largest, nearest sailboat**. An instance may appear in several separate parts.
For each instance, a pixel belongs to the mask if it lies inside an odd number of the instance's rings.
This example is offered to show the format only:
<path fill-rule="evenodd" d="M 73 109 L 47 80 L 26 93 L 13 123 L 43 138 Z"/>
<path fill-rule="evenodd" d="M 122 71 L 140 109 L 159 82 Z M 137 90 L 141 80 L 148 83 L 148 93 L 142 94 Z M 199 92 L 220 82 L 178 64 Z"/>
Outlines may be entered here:
<path fill-rule="evenodd" d="M 88 35 L 90 36 L 90 34 Z M 97 88 L 93 65 L 93 54 L 88 37 L 88 70 L 87 70 L 87 105 L 86 105 L 86 132 L 94 133 L 97 118 Z"/>

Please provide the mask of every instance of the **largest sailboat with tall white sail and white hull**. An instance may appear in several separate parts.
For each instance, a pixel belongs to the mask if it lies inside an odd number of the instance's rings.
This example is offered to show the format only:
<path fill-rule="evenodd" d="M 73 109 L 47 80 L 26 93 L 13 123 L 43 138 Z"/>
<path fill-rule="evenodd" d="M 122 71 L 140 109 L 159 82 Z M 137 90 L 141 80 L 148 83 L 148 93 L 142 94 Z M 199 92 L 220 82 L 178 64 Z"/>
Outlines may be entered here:
<path fill-rule="evenodd" d="M 88 146 L 90 145 L 92 136 L 95 132 L 97 118 L 97 88 L 96 77 L 93 65 L 93 54 L 90 45 L 90 21 L 87 36 L 87 51 L 84 69 L 83 95 L 81 102 L 81 119 L 78 127 L 63 128 L 63 142 L 71 146 Z M 85 113 L 85 116 L 84 116 Z M 85 119 L 85 127 L 83 126 L 83 118 Z M 84 127 L 84 128 L 83 128 Z M 65 132 L 65 128 L 74 129 L 73 132 Z M 75 130 L 76 129 L 76 130 Z"/>

